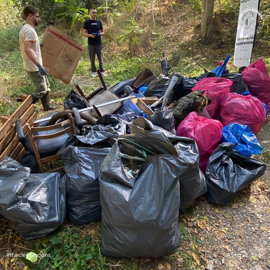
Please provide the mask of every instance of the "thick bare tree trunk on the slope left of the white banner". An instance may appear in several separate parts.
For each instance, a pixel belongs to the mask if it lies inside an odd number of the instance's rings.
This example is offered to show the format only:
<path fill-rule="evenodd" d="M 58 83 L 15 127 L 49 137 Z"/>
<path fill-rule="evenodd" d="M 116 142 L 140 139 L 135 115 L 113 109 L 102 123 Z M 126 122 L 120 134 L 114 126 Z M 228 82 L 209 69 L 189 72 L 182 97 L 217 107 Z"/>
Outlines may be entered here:
<path fill-rule="evenodd" d="M 200 38 L 203 44 L 209 45 L 213 42 L 213 11 L 214 0 L 202 0 L 202 19 Z"/>

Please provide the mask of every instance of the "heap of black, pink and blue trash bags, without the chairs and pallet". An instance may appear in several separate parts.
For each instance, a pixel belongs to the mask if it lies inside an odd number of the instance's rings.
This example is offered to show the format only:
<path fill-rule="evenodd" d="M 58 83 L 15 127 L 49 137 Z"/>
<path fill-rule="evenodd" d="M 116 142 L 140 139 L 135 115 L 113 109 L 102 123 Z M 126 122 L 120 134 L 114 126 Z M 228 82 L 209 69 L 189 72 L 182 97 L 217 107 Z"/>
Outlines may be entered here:
<path fill-rule="evenodd" d="M 163 61 L 161 78 L 144 70 L 140 87 L 134 82 L 142 74 L 107 89 L 148 106 L 127 99 L 71 135 L 58 152 L 65 174 L 31 174 L 6 157 L 0 214 L 25 239 L 49 234 L 66 217 L 78 224 L 101 219 L 105 256 L 175 252 L 179 210 L 199 196 L 229 204 L 266 169 L 253 155 L 262 153 L 256 134 L 270 109 L 269 75 L 262 59 L 230 74 L 228 59 L 193 78 L 168 74 Z M 65 105 L 87 107 L 74 91 Z"/>

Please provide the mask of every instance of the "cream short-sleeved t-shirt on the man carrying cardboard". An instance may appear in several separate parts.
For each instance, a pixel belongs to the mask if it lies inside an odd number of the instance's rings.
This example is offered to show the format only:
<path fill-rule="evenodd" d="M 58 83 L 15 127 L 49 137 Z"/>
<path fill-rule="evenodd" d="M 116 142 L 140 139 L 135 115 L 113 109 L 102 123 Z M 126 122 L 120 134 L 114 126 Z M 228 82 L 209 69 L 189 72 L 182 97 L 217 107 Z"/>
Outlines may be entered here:
<path fill-rule="evenodd" d="M 32 51 L 34 55 L 37 57 L 39 63 L 42 64 L 41 51 L 38 41 L 38 35 L 33 26 L 30 24 L 26 24 L 22 26 L 22 29 L 19 33 L 19 41 L 20 41 L 20 49 L 23 60 L 23 67 L 27 71 L 38 71 L 38 67 L 28 58 L 26 53 L 24 52 L 24 42 L 25 41 L 33 41 Z"/>

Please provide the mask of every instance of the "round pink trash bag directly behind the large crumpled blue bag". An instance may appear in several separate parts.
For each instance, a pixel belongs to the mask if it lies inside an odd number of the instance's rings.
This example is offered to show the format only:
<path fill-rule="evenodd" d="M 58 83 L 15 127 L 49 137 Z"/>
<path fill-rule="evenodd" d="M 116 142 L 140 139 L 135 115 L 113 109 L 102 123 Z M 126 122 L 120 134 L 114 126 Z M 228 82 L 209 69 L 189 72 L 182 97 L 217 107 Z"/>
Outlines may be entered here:
<path fill-rule="evenodd" d="M 256 135 L 266 120 L 262 102 L 252 95 L 226 94 L 221 98 L 220 106 L 223 126 L 234 123 L 248 125 Z"/>

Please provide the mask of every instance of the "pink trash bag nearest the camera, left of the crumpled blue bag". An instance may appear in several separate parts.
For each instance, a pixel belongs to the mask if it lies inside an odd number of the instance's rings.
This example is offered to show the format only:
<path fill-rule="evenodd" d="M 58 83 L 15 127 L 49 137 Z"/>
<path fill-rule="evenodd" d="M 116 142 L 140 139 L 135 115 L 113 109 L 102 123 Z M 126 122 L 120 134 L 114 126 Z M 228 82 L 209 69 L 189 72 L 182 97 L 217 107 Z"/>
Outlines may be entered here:
<path fill-rule="evenodd" d="M 222 124 L 214 119 L 198 116 L 196 112 L 189 113 L 176 129 L 177 136 L 183 136 L 196 141 L 199 149 L 199 168 L 205 174 L 207 162 L 221 140 Z"/>

